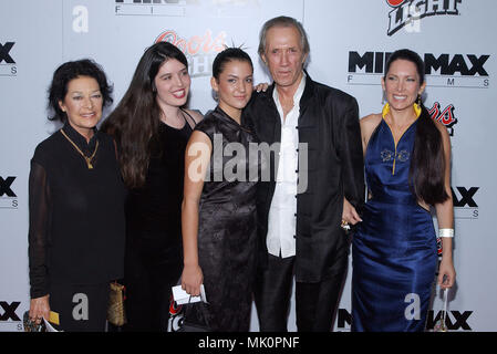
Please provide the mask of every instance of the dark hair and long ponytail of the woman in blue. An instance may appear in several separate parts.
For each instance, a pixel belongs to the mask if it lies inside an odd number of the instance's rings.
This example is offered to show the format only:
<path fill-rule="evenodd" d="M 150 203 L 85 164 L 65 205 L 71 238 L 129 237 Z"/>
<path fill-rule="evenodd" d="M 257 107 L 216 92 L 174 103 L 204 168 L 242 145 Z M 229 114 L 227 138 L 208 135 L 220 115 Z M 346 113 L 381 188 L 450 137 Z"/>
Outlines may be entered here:
<path fill-rule="evenodd" d="M 396 60 L 406 60 L 414 63 L 420 75 L 420 85 L 424 83 L 424 62 L 417 53 L 407 49 L 392 53 L 385 66 L 385 77 L 391 64 Z M 411 158 L 410 183 L 417 199 L 428 205 L 435 205 L 448 199 L 445 190 L 444 145 L 442 134 L 423 103 L 421 103 L 421 108 Z"/>

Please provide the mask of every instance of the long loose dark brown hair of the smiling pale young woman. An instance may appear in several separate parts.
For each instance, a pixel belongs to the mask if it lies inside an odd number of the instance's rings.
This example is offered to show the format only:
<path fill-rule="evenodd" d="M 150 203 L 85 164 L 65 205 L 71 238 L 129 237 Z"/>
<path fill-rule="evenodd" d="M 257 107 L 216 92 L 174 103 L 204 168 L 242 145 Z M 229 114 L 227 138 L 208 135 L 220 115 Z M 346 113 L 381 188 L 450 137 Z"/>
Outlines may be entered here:
<path fill-rule="evenodd" d="M 130 188 L 145 184 L 151 145 L 161 121 L 154 80 L 161 65 L 170 59 L 188 69 L 185 54 L 175 45 L 158 42 L 149 46 L 142 55 L 120 104 L 102 124 L 102 129 L 114 136 L 120 146 L 121 170 Z"/>

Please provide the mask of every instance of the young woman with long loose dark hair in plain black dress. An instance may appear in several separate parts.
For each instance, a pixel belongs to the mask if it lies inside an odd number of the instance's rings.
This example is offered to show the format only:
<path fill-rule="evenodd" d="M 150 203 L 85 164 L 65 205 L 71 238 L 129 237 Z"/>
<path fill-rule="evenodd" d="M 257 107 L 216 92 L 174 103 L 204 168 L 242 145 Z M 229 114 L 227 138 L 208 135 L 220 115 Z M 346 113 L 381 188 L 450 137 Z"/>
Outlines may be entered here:
<path fill-rule="evenodd" d="M 118 145 L 128 188 L 125 279 L 130 331 L 166 331 L 170 288 L 182 274 L 184 156 L 198 112 L 184 108 L 188 63 L 175 45 L 148 48 L 102 125 Z"/>

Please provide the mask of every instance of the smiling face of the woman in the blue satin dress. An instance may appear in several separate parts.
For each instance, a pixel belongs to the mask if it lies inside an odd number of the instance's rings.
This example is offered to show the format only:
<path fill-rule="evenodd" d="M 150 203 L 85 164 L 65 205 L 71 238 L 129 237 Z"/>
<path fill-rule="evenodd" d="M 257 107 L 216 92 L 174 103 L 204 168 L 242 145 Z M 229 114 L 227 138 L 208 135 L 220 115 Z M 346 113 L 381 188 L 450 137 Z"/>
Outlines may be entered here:
<path fill-rule="evenodd" d="M 398 59 L 390 65 L 389 72 L 382 79 L 382 86 L 390 106 L 402 111 L 416 102 L 417 95 L 423 93 L 426 83 L 420 84 L 420 74 L 413 62 Z"/>

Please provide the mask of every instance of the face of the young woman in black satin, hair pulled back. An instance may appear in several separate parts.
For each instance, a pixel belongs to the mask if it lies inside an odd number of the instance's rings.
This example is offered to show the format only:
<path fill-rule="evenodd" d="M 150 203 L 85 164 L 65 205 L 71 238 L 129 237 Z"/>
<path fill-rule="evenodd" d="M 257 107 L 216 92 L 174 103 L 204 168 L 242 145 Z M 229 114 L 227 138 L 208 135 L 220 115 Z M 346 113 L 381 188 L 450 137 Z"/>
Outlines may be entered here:
<path fill-rule="evenodd" d="M 230 116 L 236 116 L 252 95 L 252 66 L 240 60 L 231 60 L 225 63 L 219 79 L 213 77 L 213 90 L 219 97 L 219 107 Z"/>

